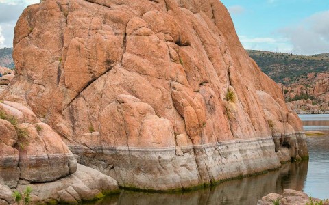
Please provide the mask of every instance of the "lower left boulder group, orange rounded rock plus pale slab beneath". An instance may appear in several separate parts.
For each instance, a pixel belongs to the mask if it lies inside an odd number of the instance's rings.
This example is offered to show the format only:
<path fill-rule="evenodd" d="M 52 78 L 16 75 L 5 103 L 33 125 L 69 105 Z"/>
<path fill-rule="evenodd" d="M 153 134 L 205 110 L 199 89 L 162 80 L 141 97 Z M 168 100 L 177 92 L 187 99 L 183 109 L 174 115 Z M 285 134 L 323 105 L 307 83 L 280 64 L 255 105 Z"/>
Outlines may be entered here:
<path fill-rule="evenodd" d="M 13 203 L 10 188 L 23 193 L 32 187 L 33 202 L 71 204 L 119 189 L 109 176 L 77 165 L 62 138 L 20 103 L 0 102 L 0 131 L 1 205 Z"/>

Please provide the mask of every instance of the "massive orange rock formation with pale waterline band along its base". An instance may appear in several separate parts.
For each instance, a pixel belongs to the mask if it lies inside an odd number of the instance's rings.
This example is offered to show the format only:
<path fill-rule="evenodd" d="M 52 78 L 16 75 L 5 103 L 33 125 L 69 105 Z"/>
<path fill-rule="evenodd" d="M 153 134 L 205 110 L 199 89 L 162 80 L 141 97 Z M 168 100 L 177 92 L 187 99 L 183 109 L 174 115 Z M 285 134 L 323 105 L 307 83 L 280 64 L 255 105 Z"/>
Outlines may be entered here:
<path fill-rule="evenodd" d="M 122 187 L 185 189 L 308 156 L 217 0 L 41 1 L 19 18 L 14 62 L 10 94 Z"/>

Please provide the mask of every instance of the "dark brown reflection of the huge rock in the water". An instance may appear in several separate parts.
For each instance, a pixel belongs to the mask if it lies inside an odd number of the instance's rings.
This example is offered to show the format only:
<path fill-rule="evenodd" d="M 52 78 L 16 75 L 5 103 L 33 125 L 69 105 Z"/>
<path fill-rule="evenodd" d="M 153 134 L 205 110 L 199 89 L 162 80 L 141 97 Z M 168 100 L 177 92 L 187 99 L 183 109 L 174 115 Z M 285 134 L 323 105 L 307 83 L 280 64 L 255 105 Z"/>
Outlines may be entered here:
<path fill-rule="evenodd" d="M 231 180 L 188 193 L 141 193 L 121 191 L 97 204 L 257 204 L 268 193 L 282 193 L 283 189 L 302 191 L 308 161 L 287 163 L 278 171 L 259 176 Z"/>

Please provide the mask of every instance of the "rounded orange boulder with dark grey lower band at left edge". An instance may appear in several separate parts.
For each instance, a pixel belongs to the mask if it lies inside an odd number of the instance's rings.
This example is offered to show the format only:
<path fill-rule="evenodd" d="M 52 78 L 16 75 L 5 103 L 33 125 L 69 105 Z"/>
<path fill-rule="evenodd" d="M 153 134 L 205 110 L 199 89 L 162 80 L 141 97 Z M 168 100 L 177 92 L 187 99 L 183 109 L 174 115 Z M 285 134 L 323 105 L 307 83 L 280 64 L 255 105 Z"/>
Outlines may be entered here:
<path fill-rule="evenodd" d="M 27 107 L 0 102 L 0 118 L 2 184 L 51 182 L 75 172 L 77 161 L 61 137 Z"/>

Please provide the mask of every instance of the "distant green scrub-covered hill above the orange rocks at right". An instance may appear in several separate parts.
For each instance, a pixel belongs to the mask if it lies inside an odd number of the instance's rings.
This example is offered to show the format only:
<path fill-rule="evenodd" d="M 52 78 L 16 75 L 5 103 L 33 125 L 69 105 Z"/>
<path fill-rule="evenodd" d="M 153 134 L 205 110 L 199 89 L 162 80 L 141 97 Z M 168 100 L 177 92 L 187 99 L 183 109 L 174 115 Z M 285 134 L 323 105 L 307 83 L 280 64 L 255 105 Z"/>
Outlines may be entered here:
<path fill-rule="evenodd" d="M 329 70 L 329 53 L 310 56 L 256 50 L 247 52 L 265 74 L 284 85 L 295 83 L 308 73 Z"/>

